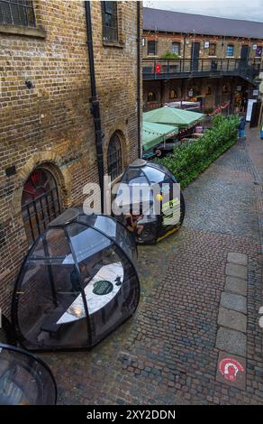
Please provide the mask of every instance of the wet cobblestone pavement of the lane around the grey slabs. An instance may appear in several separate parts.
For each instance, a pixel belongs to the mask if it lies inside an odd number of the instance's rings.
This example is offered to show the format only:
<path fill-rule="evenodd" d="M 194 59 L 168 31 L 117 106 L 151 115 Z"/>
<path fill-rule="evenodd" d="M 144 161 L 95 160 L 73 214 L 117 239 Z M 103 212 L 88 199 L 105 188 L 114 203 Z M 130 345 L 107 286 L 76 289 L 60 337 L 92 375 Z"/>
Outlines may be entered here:
<path fill-rule="evenodd" d="M 186 219 L 140 246 L 134 318 L 91 352 L 45 354 L 62 404 L 263 404 L 260 161 L 249 132 L 184 191 Z M 255 143 L 255 144 L 253 144 Z M 263 169 L 263 168 L 262 168 Z M 259 213 L 259 215 L 258 215 Z M 230 252 L 249 257 L 245 389 L 216 381 L 217 318 Z"/>

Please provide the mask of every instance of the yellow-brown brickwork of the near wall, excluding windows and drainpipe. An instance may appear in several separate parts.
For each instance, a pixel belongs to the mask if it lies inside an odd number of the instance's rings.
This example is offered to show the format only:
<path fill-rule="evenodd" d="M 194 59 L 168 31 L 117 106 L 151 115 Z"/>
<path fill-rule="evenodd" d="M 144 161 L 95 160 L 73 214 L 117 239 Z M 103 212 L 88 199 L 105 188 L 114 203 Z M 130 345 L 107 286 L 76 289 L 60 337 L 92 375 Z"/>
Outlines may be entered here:
<path fill-rule="evenodd" d="M 14 280 L 28 249 L 21 215 L 25 180 L 37 166 L 50 169 L 63 207 L 81 204 L 84 185 L 98 182 L 85 4 L 69 0 L 33 4 L 37 28 L 46 36 L 2 32 L 0 37 L 0 307 L 7 315 Z M 137 5 L 118 2 L 118 45 L 104 45 L 100 2 L 91 2 L 91 14 L 106 170 L 114 131 L 121 136 L 124 164 L 138 155 Z M 26 80 L 32 81 L 32 88 L 27 88 Z M 11 166 L 16 172 L 7 177 L 5 170 Z"/>

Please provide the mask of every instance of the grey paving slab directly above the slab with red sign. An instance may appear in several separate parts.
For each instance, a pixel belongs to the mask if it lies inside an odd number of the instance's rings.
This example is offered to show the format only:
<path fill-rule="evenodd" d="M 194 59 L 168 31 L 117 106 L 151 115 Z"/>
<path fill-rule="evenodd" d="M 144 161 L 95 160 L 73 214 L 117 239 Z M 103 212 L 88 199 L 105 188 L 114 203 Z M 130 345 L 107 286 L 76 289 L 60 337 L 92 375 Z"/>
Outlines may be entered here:
<path fill-rule="evenodd" d="M 246 357 L 247 337 L 240 331 L 219 327 L 215 346 L 230 354 Z"/>

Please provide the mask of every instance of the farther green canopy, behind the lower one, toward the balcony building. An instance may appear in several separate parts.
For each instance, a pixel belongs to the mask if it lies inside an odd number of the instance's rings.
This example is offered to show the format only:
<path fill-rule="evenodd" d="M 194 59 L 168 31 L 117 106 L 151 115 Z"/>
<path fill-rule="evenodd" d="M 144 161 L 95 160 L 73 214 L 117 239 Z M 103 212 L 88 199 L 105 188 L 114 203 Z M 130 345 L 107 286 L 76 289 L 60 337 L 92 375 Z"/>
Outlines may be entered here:
<path fill-rule="evenodd" d="M 189 127 L 200 121 L 204 115 L 189 110 L 177 109 L 174 107 L 160 107 L 143 114 L 144 122 L 154 122 L 159 124 L 171 124 L 179 127 Z"/>

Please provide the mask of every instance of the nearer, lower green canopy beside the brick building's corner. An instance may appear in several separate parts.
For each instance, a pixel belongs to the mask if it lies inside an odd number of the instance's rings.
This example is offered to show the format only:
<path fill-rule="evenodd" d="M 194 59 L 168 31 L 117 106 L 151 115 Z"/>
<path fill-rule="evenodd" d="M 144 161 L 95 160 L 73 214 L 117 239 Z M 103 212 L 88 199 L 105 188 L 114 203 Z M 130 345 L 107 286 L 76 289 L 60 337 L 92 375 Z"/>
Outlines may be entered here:
<path fill-rule="evenodd" d="M 164 142 L 169 136 L 178 134 L 178 127 L 174 125 L 142 123 L 142 148 L 149 150 L 156 144 Z"/>

